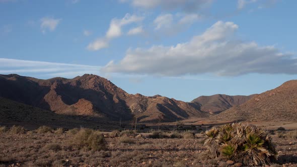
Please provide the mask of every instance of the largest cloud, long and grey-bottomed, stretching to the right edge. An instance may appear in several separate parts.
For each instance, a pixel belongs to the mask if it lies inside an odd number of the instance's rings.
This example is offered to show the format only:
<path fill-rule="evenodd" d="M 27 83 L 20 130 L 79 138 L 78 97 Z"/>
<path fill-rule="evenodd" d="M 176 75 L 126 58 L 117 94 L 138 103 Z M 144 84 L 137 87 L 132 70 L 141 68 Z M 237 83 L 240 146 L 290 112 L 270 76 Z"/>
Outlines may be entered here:
<path fill-rule="evenodd" d="M 127 50 L 103 72 L 182 76 L 201 73 L 234 76 L 247 73 L 297 73 L 297 59 L 274 46 L 259 46 L 236 38 L 239 26 L 218 21 L 189 42 Z"/>

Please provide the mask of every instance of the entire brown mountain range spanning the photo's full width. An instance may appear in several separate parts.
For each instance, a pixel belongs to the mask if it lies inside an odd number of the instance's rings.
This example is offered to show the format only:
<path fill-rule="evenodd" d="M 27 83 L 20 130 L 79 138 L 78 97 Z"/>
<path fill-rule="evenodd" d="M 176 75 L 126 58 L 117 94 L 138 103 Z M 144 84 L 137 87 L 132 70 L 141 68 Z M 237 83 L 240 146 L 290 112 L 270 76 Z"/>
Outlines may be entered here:
<path fill-rule="evenodd" d="M 174 122 L 193 117 L 229 121 L 293 120 L 296 118 L 297 81 L 288 81 L 260 95 L 201 96 L 183 102 L 160 95 L 128 94 L 106 78 L 93 74 L 72 79 L 37 79 L 8 74 L 0 75 L 0 97 L 0 114 L 11 118 L 11 112 L 16 119 L 20 119 L 16 117 L 18 112 L 23 115 L 20 112 L 28 111 L 17 111 L 10 105 L 30 108 L 29 111 L 36 112 L 38 117 L 42 114 L 61 116 L 61 120 L 65 116 L 101 121 L 137 119 L 137 122 Z"/>

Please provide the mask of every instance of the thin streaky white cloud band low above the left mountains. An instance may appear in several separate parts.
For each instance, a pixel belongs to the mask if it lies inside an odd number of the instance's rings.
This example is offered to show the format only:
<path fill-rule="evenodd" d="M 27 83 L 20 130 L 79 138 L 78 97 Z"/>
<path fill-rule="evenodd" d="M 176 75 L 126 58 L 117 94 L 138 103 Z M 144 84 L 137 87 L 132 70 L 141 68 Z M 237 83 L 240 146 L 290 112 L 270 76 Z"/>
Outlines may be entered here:
<path fill-rule="evenodd" d="M 84 73 L 99 73 L 100 66 L 54 63 L 45 61 L 28 61 L 19 59 L 0 58 L 0 73 L 10 74 L 42 74 L 52 76 L 62 76 L 57 74 L 70 74 L 77 76 Z M 65 75 L 64 75 L 65 76 Z M 69 75 L 67 75 L 69 76 Z"/>

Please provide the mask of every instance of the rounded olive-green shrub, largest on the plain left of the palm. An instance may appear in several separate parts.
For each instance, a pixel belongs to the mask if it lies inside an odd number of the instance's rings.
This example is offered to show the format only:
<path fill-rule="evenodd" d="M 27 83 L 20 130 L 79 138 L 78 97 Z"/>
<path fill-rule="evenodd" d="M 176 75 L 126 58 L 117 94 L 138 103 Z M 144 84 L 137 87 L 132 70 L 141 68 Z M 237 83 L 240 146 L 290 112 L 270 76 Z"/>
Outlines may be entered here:
<path fill-rule="evenodd" d="M 94 151 L 105 148 L 104 136 L 99 131 L 92 129 L 80 129 L 75 136 L 73 136 L 72 143 L 79 147 L 86 147 Z"/>

